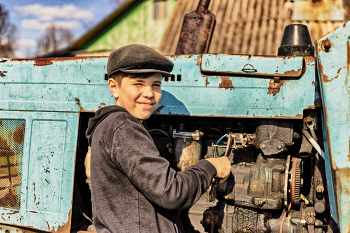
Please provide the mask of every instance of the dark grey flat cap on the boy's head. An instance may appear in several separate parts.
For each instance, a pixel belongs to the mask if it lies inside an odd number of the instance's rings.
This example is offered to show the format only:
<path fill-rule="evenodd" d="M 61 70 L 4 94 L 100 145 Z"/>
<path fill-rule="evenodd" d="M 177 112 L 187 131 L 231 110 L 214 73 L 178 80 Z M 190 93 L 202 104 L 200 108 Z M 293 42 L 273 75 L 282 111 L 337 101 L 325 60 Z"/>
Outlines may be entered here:
<path fill-rule="evenodd" d="M 171 76 L 174 63 L 156 50 L 141 44 L 130 44 L 115 50 L 109 55 L 107 75 L 119 71 L 125 73 L 161 73 Z"/>

